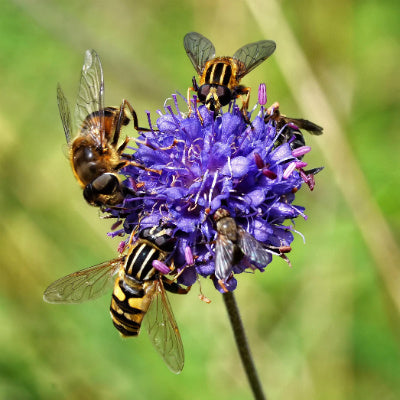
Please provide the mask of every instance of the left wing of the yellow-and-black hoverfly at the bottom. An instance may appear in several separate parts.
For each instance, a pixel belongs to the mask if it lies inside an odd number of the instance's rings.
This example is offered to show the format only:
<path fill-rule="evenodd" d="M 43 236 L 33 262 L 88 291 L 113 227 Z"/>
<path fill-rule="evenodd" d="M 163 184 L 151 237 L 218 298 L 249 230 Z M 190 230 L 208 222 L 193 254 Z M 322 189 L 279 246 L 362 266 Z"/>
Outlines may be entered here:
<path fill-rule="evenodd" d="M 44 292 L 47 303 L 82 303 L 102 296 L 115 280 L 124 257 L 82 269 L 53 282 Z"/>

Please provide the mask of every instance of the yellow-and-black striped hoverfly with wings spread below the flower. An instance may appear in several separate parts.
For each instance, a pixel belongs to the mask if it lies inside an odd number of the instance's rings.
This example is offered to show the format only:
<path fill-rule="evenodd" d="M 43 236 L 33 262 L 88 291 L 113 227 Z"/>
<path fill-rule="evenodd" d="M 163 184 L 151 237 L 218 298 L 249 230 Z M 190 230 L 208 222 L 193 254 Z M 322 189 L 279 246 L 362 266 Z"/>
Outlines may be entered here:
<path fill-rule="evenodd" d="M 157 352 L 172 372 L 180 373 L 183 345 L 165 290 L 185 294 L 190 288 L 168 280 L 153 267 L 155 260 L 165 261 L 174 247 L 169 226 L 142 229 L 126 255 L 53 282 L 43 298 L 48 303 L 82 303 L 105 294 L 114 285 L 110 312 L 121 336 L 137 336 L 144 321 Z M 173 262 L 170 269 L 174 271 Z"/>

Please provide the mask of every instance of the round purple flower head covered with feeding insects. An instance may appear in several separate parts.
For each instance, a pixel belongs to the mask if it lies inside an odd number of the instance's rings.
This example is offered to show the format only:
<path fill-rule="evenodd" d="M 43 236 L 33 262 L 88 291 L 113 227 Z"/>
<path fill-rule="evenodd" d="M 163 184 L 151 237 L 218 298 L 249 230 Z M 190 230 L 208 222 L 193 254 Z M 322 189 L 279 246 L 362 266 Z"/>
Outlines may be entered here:
<path fill-rule="evenodd" d="M 291 221 L 305 217 L 304 208 L 293 201 L 309 178 L 302 169 L 305 163 L 296 158 L 306 151 L 296 153 L 289 143 L 278 144 L 276 124 L 264 122 L 263 107 L 249 125 L 233 104 L 214 117 L 206 107 L 197 108 L 194 99 L 195 111 L 186 116 L 176 97 L 174 101 L 175 111 L 170 106 L 158 111 L 157 130 L 141 132 L 133 149 L 135 161 L 151 170 L 128 166 L 121 171 L 132 194 L 110 212 L 124 219 L 128 234 L 138 226 L 175 226 L 171 259 L 179 271 L 178 283 L 191 286 L 203 276 L 213 279 L 220 291 L 234 290 L 235 275 L 263 271 L 273 255 L 287 260 L 283 253 L 293 241 Z M 262 263 L 246 252 L 236 255 L 223 279 L 215 268 L 221 236 L 213 216 L 220 209 L 268 252 Z"/>

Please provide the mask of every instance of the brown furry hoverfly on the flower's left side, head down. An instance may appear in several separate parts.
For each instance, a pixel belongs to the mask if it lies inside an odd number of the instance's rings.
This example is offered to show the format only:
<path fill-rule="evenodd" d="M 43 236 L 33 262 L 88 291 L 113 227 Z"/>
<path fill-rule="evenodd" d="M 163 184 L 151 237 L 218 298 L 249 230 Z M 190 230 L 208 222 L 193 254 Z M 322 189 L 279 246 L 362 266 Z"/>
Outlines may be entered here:
<path fill-rule="evenodd" d="M 116 174 L 121 168 L 134 165 L 160 173 L 122 157 L 130 140 L 127 137 L 118 145 L 121 128 L 129 123 L 125 108 L 132 115 L 136 130 L 149 129 L 138 127 L 136 112 L 127 100 L 123 100 L 119 108 L 104 107 L 103 68 L 94 50 L 86 50 L 85 53 L 75 106 L 76 129 L 79 132 L 75 138 L 72 137 L 68 102 L 60 85 L 57 87 L 57 101 L 72 171 L 89 204 L 114 206 L 122 202 L 129 189 L 121 184 Z"/>

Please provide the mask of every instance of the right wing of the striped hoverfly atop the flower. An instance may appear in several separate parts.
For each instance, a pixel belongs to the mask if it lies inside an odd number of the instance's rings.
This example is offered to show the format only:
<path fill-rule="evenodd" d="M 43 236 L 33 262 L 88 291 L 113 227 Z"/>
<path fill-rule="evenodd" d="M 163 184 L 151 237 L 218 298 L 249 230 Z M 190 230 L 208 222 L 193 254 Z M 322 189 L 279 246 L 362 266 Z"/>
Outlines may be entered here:
<path fill-rule="evenodd" d="M 251 70 L 266 60 L 276 48 L 273 40 L 260 40 L 241 47 L 233 55 L 233 59 L 239 61 L 238 79 L 243 78 Z"/>

